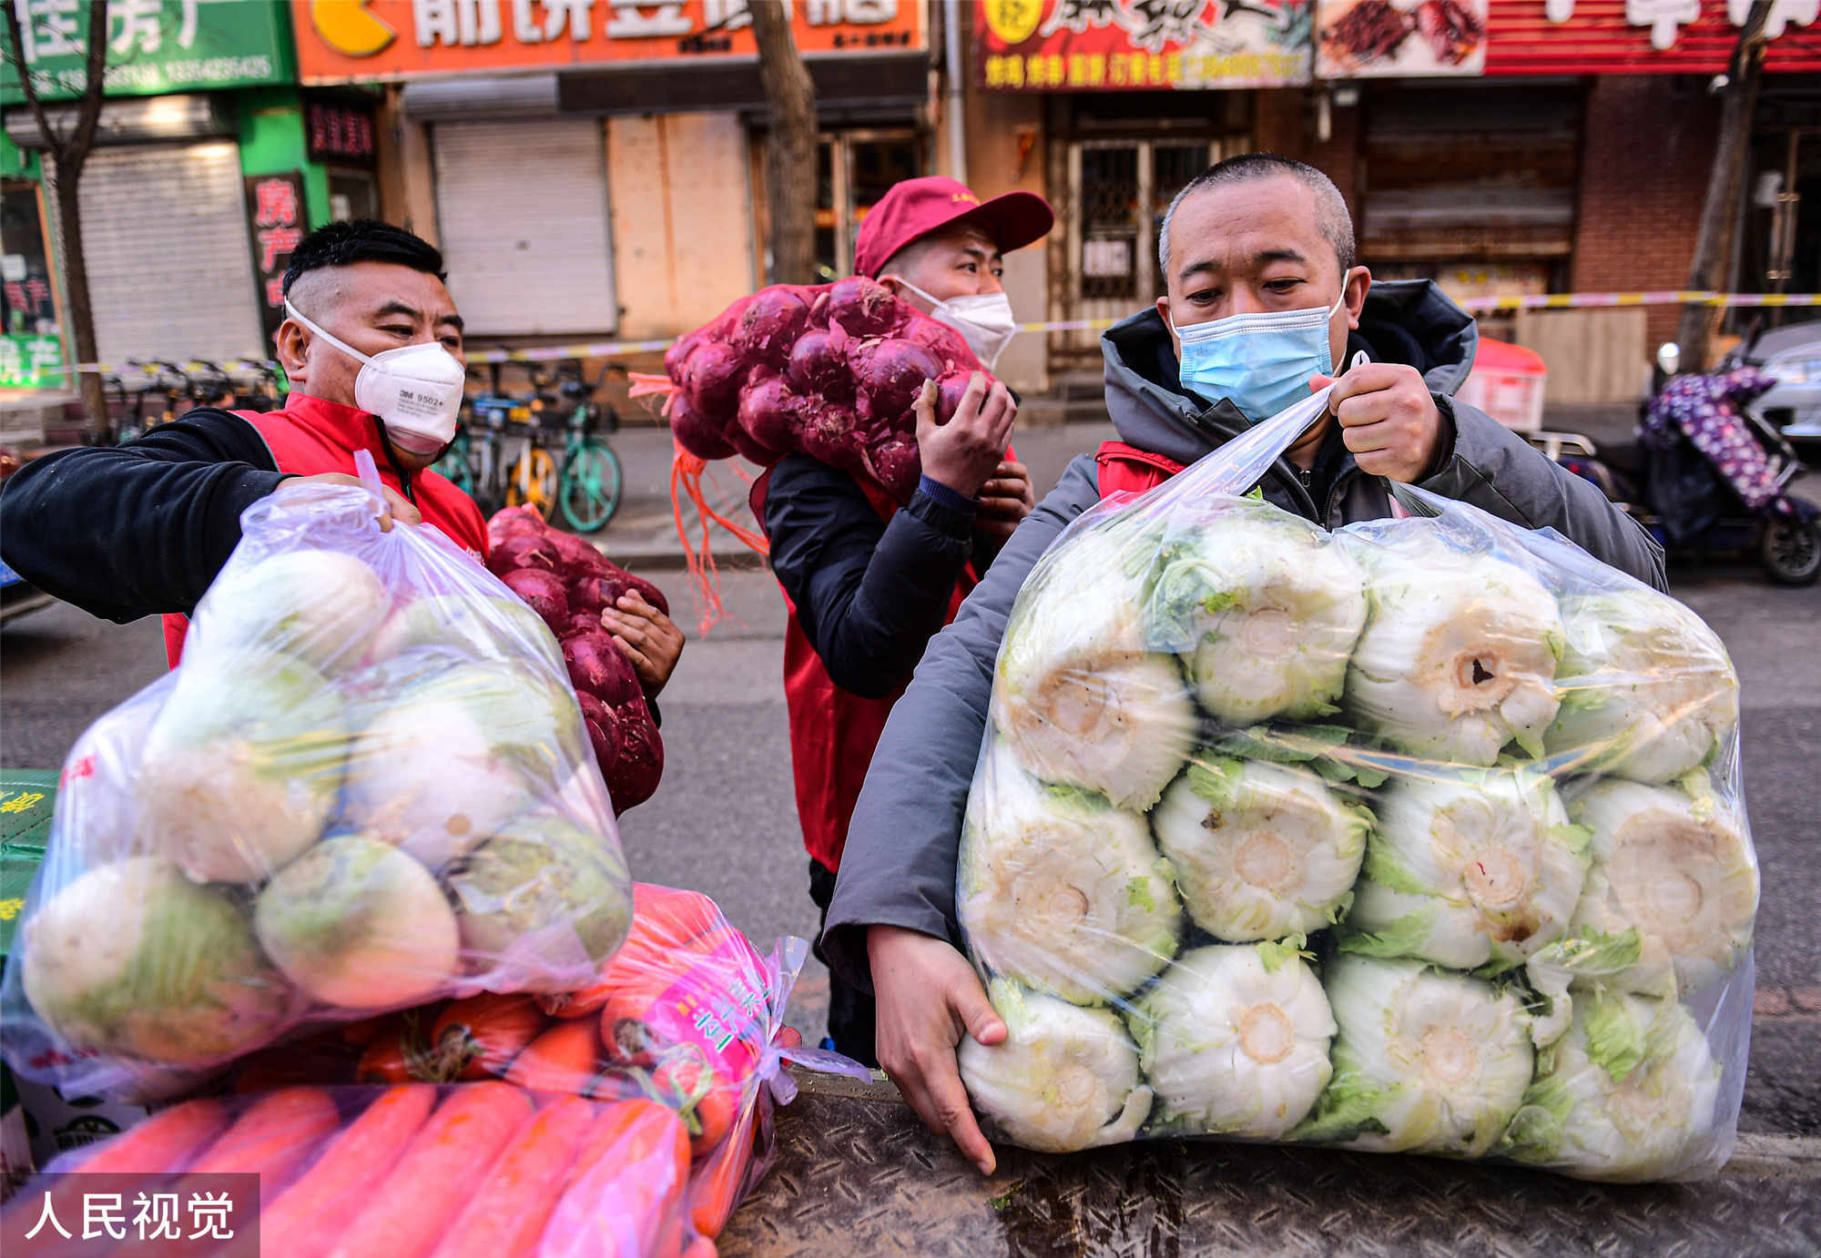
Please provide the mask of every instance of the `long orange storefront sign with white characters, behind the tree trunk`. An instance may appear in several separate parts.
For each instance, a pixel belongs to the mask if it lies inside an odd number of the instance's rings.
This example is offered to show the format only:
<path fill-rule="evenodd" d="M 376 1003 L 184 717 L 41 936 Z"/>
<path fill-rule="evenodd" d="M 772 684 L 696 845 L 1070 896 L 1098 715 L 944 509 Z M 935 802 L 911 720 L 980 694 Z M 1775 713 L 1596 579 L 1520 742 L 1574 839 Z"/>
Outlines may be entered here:
<path fill-rule="evenodd" d="M 925 47 L 923 0 L 787 0 L 805 56 Z M 306 84 L 756 56 L 745 0 L 310 0 Z"/>

